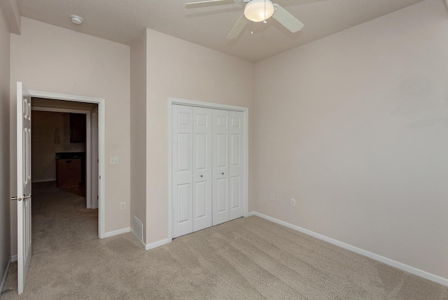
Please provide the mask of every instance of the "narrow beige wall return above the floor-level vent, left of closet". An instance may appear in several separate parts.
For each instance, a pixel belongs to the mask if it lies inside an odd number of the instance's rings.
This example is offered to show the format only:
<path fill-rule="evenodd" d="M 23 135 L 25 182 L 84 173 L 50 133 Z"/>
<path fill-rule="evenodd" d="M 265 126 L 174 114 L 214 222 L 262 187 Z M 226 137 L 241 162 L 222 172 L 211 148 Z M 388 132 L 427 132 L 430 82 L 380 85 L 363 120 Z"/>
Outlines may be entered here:
<path fill-rule="evenodd" d="M 146 224 L 146 30 L 131 45 L 131 227 Z M 146 242 L 146 228 L 143 229 Z"/>

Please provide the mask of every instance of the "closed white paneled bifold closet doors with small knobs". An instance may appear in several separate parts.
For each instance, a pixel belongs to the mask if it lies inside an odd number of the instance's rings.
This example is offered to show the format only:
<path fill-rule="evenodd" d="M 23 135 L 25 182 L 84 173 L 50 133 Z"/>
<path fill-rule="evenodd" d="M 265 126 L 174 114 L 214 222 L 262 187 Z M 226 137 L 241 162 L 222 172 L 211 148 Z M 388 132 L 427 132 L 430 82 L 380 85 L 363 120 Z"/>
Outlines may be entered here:
<path fill-rule="evenodd" d="M 172 237 L 244 214 L 243 113 L 172 106 Z"/>

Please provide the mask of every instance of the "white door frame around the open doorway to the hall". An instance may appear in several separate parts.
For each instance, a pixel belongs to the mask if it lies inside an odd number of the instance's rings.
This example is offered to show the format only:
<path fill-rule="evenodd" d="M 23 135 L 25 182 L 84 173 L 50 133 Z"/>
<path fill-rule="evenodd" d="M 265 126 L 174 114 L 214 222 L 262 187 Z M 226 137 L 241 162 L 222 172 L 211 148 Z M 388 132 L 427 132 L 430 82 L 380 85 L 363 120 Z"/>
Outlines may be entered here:
<path fill-rule="evenodd" d="M 97 98 L 97 97 L 86 97 L 86 96 L 77 96 L 70 94 L 59 94 L 53 92 L 41 92 L 29 90 L 29 94 L 34 98 L 45 98 L 45 99 L 54 99 L 54 100 L 64 100 L 64 101 L 73 101 L 73 102 L 85 102 L 85 103 L 96 103 L 98 104 L 98 157 L 99 157 L 99 201 L 98 201 L 98 236 L 99 238 L 106 237 L 106 172 L 105 172 L 105 99 Z M 62 108 L 58 108 L 61 110 Z M 79 111 L 79 110 L 78 110 Z M 32 120 L 31 120 L 32 122 Z M 32 134 L 32 133 L 31 133 Z M 88 133 L 90 136 L 90 132 Z M 87 136 L 86 136 L 87 138 Z M 86 143 L 87 148 L 87 143 Z M 87 149 L 86 149 L 87 151 Z M 86 157 L 87 158 L 87 157 Z M 90 157 L 91 158 L 91 157 Z M 91 167 L 91 163 L 89 168 Z M 91 173 L 86 172 L 87 174 Z M 86 174 L 86 175 L 87 175 Z M 90 180 L 91 181 L 91 180 Z M 87 176 L 86 176 L 86 190 L 87 190 Z M 86 191 L 87 194 L 87 191 Z"/>

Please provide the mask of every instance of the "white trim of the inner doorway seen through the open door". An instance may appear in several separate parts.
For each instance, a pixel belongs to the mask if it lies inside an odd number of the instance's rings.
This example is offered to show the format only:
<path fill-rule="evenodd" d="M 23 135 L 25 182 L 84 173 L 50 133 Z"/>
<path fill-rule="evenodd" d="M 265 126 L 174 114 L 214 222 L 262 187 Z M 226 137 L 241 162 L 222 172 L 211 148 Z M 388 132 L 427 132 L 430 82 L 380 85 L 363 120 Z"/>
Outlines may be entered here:
<path fill-rule="evenodd" d="M 81 113 L 85 115 L 85 202 L 87 208 L 92 208 L 92 140 L 90 139 L 92 132 L 92 113 L 90 110 L 32 106 L 32 104 L 31 101 L 31 110 L 48 111 L 51 113 Z"/>

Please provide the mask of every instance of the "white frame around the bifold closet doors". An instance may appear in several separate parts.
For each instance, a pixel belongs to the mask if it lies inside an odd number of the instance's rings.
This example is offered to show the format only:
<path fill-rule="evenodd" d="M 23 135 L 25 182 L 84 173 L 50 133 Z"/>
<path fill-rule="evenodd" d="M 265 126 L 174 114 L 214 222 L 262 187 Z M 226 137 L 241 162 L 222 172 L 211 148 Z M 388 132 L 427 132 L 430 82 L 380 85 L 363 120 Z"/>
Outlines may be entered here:
<path fill-rule="evenodd" d="M 248 183 L 249 183 L 249 173 L 248 173 L 248 117 L 249 117 L 249 109 L 243 106 L 231 106 L 221 103 L 212 103 L 212 102 L 203 102 L 203 101 L 194 101 L 187 99 L 179 99 L 179 98 L 168 98 L 168 241 L 172 241 L 172 106 L 174 104 L 184 105 L 184 106 L 193 106 L 193 107 L 202 107 L 202 108 L 214 108 L 214 109 L 223 109 L 223 110 L 234 110 L 240 111 L 244 114 L 244 143 L 243 143 L 243 156 L 244 156 L 244 217 L 248 215 Z"/>

